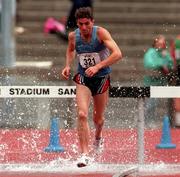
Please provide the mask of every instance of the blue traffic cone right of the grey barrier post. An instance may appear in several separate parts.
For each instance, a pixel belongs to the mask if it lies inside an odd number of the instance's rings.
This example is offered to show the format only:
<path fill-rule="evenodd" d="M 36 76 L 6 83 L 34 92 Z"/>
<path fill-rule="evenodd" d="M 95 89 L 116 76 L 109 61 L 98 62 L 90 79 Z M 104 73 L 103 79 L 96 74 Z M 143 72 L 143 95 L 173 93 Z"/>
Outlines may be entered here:
<path fill-rule="evenodd" d="M 156 148 L 159 148 L 159 149 L 160 148 L 162 149 L 163 148 L 164 149 L 176 148 L 176 145 L 171 143 L 170 122 L 169 122 L 168 116 L 164 116 L 161 143 L 156 145 Z"/>

